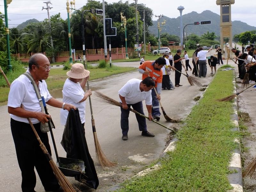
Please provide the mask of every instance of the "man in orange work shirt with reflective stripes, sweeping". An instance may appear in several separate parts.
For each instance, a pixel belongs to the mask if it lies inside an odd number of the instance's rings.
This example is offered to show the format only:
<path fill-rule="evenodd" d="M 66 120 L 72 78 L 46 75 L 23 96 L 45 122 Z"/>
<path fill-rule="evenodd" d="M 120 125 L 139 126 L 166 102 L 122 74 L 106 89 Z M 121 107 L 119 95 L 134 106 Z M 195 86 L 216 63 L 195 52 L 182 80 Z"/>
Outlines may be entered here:
<path fill-rule="evenodd" d="M 142 73 L 142 80 L 146 77 L 150 76 L 155 81 L 155 88 L 156 92 L 152 90 L 152 117 L 157 121 L 160 120 L 160 110 L 159 110 L 159 101 L 161 99 L 161 89 L 162 89 L 162 79 L 163 79 L 163 72 L 161 68 L 166 64 L 166 61 L 163 57 L 159 57 L 154 62 L 152 61 L 145 61 L 139 67 L 139 72 Z"/>

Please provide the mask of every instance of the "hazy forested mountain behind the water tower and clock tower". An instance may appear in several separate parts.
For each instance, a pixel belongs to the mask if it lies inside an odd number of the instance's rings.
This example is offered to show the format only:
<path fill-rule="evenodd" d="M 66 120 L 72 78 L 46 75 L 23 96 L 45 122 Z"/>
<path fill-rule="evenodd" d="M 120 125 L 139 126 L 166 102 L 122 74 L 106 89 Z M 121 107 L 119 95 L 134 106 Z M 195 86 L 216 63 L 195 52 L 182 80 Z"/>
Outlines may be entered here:
<path fill-rule="evenodd" d="M 160 26 L 161 22 L 164 22 L 166 20 L 166 28 L 162 28 L 160 33 L 169 33 L 171 35 L 177 35 L 180 36 L 180 16 L 177 18 L 169 18 L 169 17 L 161 17 L 160 18 Z M 190 12 L 188 14 L 182 15 L 182 23 L 183 28 L 186 24 L 194 23 L 196 21 L 205 21 L 205 20 L 211 20 L 212 24 L 207 25 L 188 25 L 185 28 L 185 34 L 188 35 L 191 33 L 194 33 L 196 35 L 201 36 L 204 33 L 207 33 L 207 31 L 215 32 L 217 36 L 220 36 L 220 15 L 217 13 L 214 13 L 212 11 L 206 10 L 202 13 L 197 12 Z M 154 35 L 158 35 L 158 29 L 157 29 L 157 21 L 153 21 L 153 26 L 149 27 L 150 33 L 153 33 Z M 182 30 L 183 30 L 182 28 Z M 244 22 L 241 21 L 232 21 L 232 33 L 233 36 L 239 33 L 242 33 L 244 31 L 252 31 L 256 30 L 256 27 L 247 25 Z"/>

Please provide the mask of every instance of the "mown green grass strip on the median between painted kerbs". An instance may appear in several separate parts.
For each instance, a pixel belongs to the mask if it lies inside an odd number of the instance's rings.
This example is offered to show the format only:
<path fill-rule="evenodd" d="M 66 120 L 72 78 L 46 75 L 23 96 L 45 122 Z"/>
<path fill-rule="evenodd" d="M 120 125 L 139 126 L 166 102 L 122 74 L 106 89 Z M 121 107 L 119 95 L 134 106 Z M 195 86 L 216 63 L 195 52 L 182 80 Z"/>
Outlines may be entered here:
<path fill-rule="evenodd" d="M 233 77 L 233 71 L 219 70 L 177 133 L 176 149 L 160 160 L 160 170 L 126 181 L 118 192 L 230 190 L 228 165 L 238 133 L 232 131 L 232 102 L 216 99 L 233 94 Z"/>

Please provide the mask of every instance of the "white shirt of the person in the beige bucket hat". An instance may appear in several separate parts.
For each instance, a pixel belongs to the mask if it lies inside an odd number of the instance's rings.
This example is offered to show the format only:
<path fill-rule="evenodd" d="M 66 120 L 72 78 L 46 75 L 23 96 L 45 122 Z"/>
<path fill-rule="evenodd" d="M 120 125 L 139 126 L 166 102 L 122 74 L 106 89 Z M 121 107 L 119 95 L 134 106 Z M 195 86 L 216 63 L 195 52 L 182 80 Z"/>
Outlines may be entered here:
<path fill-rule="evenodd" d="M 67 78 L 63 85 L 62 96 L 64 103 L 72 104 L 78 108 L 81 123 L 83 124 L 85 122 L 85 100 L 79 102 L 84 98 L 84 90 L 80 83 L 74 83 Z M 60 123 L 62 125 L 66 124 L 67 118 L 68 110 L 60 109 Z"/>

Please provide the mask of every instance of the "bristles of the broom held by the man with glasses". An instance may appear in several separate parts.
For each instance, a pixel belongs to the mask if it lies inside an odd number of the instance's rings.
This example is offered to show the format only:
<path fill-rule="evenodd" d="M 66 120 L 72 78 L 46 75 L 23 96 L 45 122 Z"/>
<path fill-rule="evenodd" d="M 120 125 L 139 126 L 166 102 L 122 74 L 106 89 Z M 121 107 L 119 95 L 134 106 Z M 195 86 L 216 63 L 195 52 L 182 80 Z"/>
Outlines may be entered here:
<path fill-rule="evenodd" d="M 53 160 L 49 161 L 52 171 L 58 180 L 61 188 L 64 192 L 81 192 L 79 189 L 77 189 L 74 185 L 72 185 L 68 179 L 65 177 L 65 175 L 60 171 L 59 167 L 53 162 Z"/>

